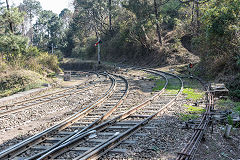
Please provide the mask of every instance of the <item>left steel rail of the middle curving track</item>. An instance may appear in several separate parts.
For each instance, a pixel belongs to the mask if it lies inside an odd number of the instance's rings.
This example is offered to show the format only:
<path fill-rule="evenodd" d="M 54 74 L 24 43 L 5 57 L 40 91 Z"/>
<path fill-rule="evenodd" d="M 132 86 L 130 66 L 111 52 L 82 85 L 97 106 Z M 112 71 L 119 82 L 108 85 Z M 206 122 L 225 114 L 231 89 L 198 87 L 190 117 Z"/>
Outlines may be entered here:
<path fill-rule="evenodd" d="M 30 148 L 33 144 L 39 143 L 41 141 L 44 141 L 46 137 L 48 137 L 51 134 L 57 133 L 58 131 L 66 128 L 67 126 L 71 125 L 72 123 L 74 123 L 75 121 L 77 121 L 78 119 L 81 118 L 82 115 L 86 114 L 88 111 L 90 111 L 92 108 L 94 108 L 95 106 L 100 105 L 104 100 L 107 99 L 107 97 L 112 94 L 114 87 L 115 87 L 115 80 L 113 77 L 104 74 L 105 76 L 109 77 L 110 80 L 112 81 L 112 84 L 110 86 L 110 88 L 106 91 L 106 93 L 100 97 L 98 100 L 96 100 L 95 103 L 90 104 L 86 107 L 84 107 L 83 109 L 81 109 L 79 112 L 75 113 L 73 116 L 63 120 L 62 122 L 60 122 L 59 124 L 46 129 L 44 131 L 42 131 L 39 134 L 36 134 L 2 152 L 0 152 L 0 159 L 8 159 L 13 157 L 14 155 L 17 155 L 25 150 L 27 150 L 28 148 Z"/>

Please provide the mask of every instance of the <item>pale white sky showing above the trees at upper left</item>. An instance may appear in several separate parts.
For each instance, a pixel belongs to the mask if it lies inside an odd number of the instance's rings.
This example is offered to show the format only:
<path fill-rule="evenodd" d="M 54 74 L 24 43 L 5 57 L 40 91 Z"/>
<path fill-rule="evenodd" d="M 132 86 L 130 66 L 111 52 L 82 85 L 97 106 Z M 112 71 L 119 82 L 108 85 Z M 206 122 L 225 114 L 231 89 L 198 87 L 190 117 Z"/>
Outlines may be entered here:
<path fill-rule="evenodd" d="M 23 0 L 9 0 L 10 5 L 19 5 Z M 71 9 L 73 0 L 38 0 L 44 10 L 51 10 L 59 14 L 64 8 Z"/>

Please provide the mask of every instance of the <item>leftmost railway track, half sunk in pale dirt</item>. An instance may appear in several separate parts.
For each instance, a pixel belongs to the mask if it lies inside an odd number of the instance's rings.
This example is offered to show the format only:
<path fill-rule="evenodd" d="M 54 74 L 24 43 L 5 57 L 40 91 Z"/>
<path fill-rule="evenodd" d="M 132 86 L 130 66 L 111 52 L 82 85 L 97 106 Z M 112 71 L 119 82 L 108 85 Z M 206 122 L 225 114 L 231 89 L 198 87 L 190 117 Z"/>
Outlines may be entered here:
<path fill-rule="evenodd" d="M 42 96 L 38 96 L 35 98 L 31 98 L 31 99 L 26 99 L 24 101 L 20 101 L 20 102 L 16 102 L 13 103 L 11 105 L 7 105 L 7 106 L 0 106 L 0 117 L 3 117 L 5 115 L 11 114 L 11 113 L 16 113 L 28 108 L 31 108 L 33 106 L 36 105 L 41 105 L 53 100 L 57 100 L 63 97 L 67 97 L 73 94 L 78 94 L 79 92 L 86 90 L 92 86 L 94 86 L 97 83 L 97 79 L 98 79 L 98 74 L 96 75 L 97 77 L 94 78 L 93 80 L 87 80 L 79 85 L 67 88 L 67 89 L 62 89 L 60 91 L 57 92 L 53 92 L 50 94 L 45 94 Z"/>

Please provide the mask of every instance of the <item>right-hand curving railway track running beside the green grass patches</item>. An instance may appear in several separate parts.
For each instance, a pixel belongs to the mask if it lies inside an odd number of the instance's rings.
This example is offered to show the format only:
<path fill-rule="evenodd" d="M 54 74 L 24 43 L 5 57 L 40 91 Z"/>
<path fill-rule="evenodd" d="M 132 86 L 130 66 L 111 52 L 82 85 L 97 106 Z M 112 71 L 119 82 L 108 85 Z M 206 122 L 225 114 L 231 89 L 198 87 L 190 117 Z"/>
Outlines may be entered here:
<path fill-rule="evenodd" d="M 45 153 L 40 159 L 98 159 L 108 151 L 122 151 L 116 146 L 122 146 L 131 135 L 144 127 L 154 117 L 164 113 L 173 105 L 183 89 L 182 80 L 172 74 L 160 71 L 145 70 L 163 76 L 166 80 L 164 88 L 152 98 L 131 110 L 85 131 L 79 132 L 72 139 Z M 168 86 L 169 77 L 178 80 L 179 90 L 177 94 L 164 92 Z M 115 149 L 114 149 L 115 148 Z"/>

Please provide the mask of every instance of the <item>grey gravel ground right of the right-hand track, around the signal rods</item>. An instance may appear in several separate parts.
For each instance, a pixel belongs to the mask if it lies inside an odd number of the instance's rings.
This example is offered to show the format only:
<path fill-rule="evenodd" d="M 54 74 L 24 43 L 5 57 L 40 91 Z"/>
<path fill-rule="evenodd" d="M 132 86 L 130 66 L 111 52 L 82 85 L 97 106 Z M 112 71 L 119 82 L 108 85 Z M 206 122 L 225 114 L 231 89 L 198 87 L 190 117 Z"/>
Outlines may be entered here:
<path fill-rule="evenodd" d="M 169 68 L 165 67 L 161 70 L 169 71 Z M 184 84 L 186 83 L 188 82 L 184 81 Z M 199 83 L 197 89 L 202 92 L 203 89 L 200 86 Z M 127 149 L 126 153 L 107 153 L 100 159 L 175 160 L 177 153 L 181 152 L 194 132 L 192 129 L 183 129 L 184 121 L 181 119 L 181 114 L 187 113 L 185 105 L 193 103 L 195 101 L 182 94 L 167 112 L 146 125 L 153 129 L 141 129 L 137 132 L 144 133 L 146 136 L 133 135 L 128 140 L 136 141 L 135 144 L 121 144 L 116 147 Z M 204 108 L 205 105 L 200 106 Z M 194 160 L 240 160 L 240 129 L 234 128 L 231 131 L 231 138 L 226 139 L 223 137 L 224 128 L 225 126 L 216 124 L 211 133 L 211 128 L 208 127 L 205 140 L 201 141 Z"/>

